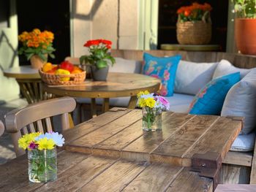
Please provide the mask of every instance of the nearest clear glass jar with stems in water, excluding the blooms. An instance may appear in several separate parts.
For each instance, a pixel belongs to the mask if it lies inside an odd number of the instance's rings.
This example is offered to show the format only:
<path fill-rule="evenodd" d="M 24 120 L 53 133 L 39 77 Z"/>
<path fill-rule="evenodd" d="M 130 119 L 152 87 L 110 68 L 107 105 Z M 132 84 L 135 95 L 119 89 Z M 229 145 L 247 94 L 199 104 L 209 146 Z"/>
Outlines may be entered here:
<path fill-rule="evenodd" d="M 57 178 L 57 153 L 53 150 L 29 150 L 29 180 L 47 183 Z"/>

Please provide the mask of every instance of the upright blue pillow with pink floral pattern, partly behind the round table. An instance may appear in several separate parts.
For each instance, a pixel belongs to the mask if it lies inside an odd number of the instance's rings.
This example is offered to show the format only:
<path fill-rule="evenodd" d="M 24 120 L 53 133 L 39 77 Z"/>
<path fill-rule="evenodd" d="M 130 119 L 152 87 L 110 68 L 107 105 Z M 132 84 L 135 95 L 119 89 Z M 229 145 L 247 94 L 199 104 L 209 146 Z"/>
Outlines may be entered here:
<path fill-rule="evenodd" d="M 145 61 L 143 66 L 143 74 L 151 77 L 157 77 L 161 80 L 162 85 L 160 94 L 162 96 L 173 96 L 174 82 L 178 62 L 181 60 L 181 55 L 159 58 L 148 53 L 144 53 Z"/>

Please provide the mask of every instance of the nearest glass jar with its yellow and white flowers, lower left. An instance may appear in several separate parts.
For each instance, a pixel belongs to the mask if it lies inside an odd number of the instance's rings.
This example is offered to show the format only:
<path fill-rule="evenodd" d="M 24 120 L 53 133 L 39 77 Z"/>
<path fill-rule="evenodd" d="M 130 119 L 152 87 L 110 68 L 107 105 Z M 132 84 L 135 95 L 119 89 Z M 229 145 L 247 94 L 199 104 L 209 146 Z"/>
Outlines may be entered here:
<path fill-rule="evenodd" d="M 28 150 L 29 180 L 34 183 L 47 183 L 57 178 L 56 146 L 63 146 L 61 134 L 25 134 L 18 139 L 19 147 Z"/>

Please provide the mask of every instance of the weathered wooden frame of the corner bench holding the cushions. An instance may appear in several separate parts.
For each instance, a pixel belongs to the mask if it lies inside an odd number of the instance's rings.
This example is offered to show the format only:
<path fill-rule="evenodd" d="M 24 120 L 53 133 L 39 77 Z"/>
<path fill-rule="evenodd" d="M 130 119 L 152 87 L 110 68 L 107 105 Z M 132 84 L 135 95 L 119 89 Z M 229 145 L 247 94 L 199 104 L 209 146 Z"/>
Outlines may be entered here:
<path fill-rule="evenodd" d="M 179 54 L 182 56 L 182 60 L 192 62 L 217 62 L 226 59 L 239 68 L 250 69 L 256 67 L 256 56 L 222 52 L 112 50 L 111 55 L 118 58 L 143 61 L 143 52 L 158 57 Z M 231 151 L 227 153 L 222 164 L 220 183 L 256 184 L 256 147 L 254 152 L 250 153 Z"/>

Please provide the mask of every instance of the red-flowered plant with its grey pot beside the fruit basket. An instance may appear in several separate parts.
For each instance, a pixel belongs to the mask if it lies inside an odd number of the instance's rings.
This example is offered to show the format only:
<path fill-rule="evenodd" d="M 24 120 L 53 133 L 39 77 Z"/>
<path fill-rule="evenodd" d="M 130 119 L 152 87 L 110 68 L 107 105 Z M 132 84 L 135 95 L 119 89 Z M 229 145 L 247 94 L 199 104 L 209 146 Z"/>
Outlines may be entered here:
<path fill-rule="evenodd" d="M 106 39 L 89 40 L 83 45 L 89 48 L 89 55 L 80 57 L 80 64 L 89 64 L 94 80 L 105 81 L 108 76 L 109 65 L 115 64 L 115 59 L 110 55 L 112 42 Z"/>

